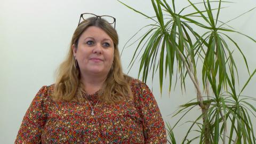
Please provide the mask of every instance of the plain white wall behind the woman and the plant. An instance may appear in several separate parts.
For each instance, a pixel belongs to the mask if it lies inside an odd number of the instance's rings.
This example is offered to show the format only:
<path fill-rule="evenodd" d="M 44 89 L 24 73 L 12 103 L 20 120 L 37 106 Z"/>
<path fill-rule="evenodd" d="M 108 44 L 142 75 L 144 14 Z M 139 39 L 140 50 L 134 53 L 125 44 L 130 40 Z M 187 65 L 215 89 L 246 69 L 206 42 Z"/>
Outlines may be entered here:
<path fill-rule="evenodd" d="M 150 1 L 129 1 L 124 3 L 148 15 L 154 15 Z M 171 2 L 169 0 L 169 2 Z M 197 1 L 198 2 L 198 1 Z M 235 1 L 222 13 L 222 20 L 227 21 L 256 6 L 256 1 Z M 185 0 L 179 1 L 182 7 Z M 187 4 L 186 4 L 187 5 Z M 125 42 L 142 26 L 148 24 L 142 15 L 134 13 L 117 1 L 76 0 L 76 1 L 38 1 L 38 0 L 0 0 L 0 142 L 13 143 L 23 116 L 31 100 L 43 85 L 54 82 L 54 71 L 65 57 L 68 45 L 77 27 L 79 14 L 90 12 L 113 15 L 119 34 L 121 49 Z M 256 38 L 256 10 L 244 17 L 230 22 L 238 31 Z M 256 44 L 248 39 L 232 35 L 243 51 L 251 66 L 256 68 Z M 127 72 L 135 45 L 126 49 L 122 56 L 123 68 Z M 247 79 L 242 58 L 237 54 L 241 86 Z M 137 65 L 138 66 L 138 65 Z M 132 69 L 131 76 L 137 77 L 137 68 Z M 157 76 L 156 76 L 157 77 Z M 248 85 L 244 94 L 256 97 L 256 78 Z M 189 82 L 188 82 L 189 84 Z M 151 87 L 151 83 L 148 84 Z M 167 82 L 166 82 L 167 87 Z M 179 86 L 179 85 L 178 85 Z M 187 93 L 181 93 L 179 87 L 168 96 L 167 88 L 162 98 L 158 90 L 158 80 L 153 84 L 154 95 L 162 111 L 164 121 L 171 124 L 177 118 L 168 116 L 179 105 L 195 98 L 193 86 L 187 86 Z M 193 120 L 193 117 L 191 117 Z M 175 135 L 180 140 L 185 129 L 176 129 Z"/>

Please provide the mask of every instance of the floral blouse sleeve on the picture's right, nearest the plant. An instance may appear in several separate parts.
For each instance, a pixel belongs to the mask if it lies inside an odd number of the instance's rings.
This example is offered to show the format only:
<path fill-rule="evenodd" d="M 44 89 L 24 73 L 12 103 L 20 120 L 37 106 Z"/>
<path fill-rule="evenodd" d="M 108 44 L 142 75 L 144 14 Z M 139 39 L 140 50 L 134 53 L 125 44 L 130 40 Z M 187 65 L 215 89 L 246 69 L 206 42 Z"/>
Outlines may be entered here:
<path fill-rule="evenodd" d="M 167 143 L 164 121 L 150 89 L 138 80 L 134 89 L 135 107 L 142 118 L 145 143 Z"/>

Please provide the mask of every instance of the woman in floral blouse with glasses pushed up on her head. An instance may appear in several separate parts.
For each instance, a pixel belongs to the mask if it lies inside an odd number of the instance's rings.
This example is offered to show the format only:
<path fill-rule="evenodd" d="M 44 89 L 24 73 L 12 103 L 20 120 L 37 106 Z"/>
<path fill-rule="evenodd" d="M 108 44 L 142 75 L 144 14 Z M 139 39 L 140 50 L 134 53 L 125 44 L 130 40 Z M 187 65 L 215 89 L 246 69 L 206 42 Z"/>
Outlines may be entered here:
<path fill-rule="evenodd" d="M 115 18 L 86 15 L 57 82 L 36 94 L 15 143 L 166 143 L 153 94 L 122 72 Z"/>

